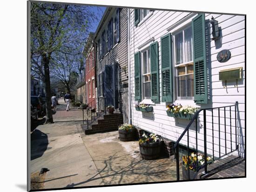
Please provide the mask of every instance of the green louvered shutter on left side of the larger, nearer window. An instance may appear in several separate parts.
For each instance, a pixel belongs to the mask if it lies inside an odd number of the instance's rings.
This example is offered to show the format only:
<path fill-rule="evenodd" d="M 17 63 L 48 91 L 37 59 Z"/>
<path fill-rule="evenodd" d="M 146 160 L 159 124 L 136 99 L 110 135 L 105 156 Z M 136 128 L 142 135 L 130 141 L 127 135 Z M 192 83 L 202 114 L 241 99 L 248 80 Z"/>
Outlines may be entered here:
<path fill-rule="evenodd" d="M 162 102 L 173 102 L 171 34 L 161 38 Z"/>

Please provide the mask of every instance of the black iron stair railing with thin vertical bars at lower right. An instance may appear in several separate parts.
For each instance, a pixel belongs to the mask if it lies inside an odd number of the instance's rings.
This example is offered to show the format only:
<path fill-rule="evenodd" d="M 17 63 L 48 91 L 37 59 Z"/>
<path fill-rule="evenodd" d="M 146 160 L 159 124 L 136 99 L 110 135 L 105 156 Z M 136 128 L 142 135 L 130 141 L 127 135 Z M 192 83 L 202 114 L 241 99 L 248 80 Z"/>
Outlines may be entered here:
<path fill-rule="evenodd" d="M 203 111 L 203 127 L 204 127 L 204 162 L 205 162 L 205 166 L 204 166 L 204 172 L 205 174 L 207 174 L 207 147 L 206 147 L 206 110 L 211 110 L 212 111 L 212 130 L 213 129 L 213 109 L 218 109 L 218 117 L 219 117 L 219 140 L 220 140 L 220 109 L 221 108 L 224 108 L 224 119 L 225 119 L 225 154 L 224 155 L 227 155 L 227 154 L 230 154 L 232 153 L 233 151 L 237 150 L 237 141 L 236 141 L 236 149 L 234 149 L 232 151 L 232 137 L 231 137 L 231 152 L 227 153 L 227 144 L 226 144 L 226 108 L 229 107 L 229 110 L 230 110 L 230 134 L 231 134 L 231 107 L 235 106 L 235 129 L 236 129 L 236 106 L 237 106 L 238 102 L 236 102 L 234 105 L 228 105 L 228 106 L 223 106 L 223 107 L 215 107 L 215 108 L 204 108 L 204 109 L 199 109 L 198 111 L 196 111 L 195 115 L 192 117 L 192 119 L 190 120 L 189 124 L 187 125 L 187 127 L 184 129 L 184 131 L 182 132 L 182 134 L 180 135 L 180 137 L 178 138 L 178 140 L 175 142 L 175 145 L 174 145 L 174 151 L 175 151 L 175 159 L 176 159 L 176 175 L 177 175 L 177 180 L 180 179 L 180 172 L 179 172 L 179 142 L 182 140 L 183 136 L 189 131 L 189 128 L 190 126 L 192 125 L 192 123 L 195 121 L 196 122 L 196 157 L 197 157 L 197 153 L 198 153 L 198 150 L 197 150 L 197 117 L 199 115 L 199 113 L 201 111 Z M 188 146 L 187 146 L 187 149 L 188 149 L 188 157 L 189 157 L 189 132 L 187 134 L 188 136 Z M 214 145 L 213 145 L 214 147 Z M 222 155 L 222 156 L 224 156 Z M 222 157 L 221 156 L 221 151 L 220 151 L 220 141 L 219 141 L 219 158 Z M 214 158 L 214 148 L 213 148 L 213 158 Z M 196 171 L 198 171 L 198 159 L 196 160 Z M 189 170 L 189 169 L 188 169 Z"/>

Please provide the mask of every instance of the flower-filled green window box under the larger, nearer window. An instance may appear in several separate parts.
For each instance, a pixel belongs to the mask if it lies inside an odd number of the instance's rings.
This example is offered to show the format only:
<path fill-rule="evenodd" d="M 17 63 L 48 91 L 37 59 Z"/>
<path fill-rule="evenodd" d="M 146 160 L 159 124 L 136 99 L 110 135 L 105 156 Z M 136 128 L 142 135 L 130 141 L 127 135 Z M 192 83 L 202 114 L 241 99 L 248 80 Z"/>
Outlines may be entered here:
<path fill-rule="evenodd" d="M 180 119 L 191 120 L 195 115 L 198 108 L 191 107 L 189 105 L 182 106 L 181 104 L 175 105 L 174 103 L 167 105 L 167 115 L 170 117 L 176 117 Z"/>

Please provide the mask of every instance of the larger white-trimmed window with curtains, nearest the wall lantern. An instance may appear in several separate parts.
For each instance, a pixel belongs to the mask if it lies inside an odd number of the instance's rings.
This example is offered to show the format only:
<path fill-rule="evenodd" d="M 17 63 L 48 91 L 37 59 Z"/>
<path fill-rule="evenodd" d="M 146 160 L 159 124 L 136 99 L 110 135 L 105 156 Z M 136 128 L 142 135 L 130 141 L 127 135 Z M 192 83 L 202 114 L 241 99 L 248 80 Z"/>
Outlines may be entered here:
<path fill-rule="evenodd" d="M 192 26 L 174 33 L 175 91 L 177 99 L 194 99 Z"/>

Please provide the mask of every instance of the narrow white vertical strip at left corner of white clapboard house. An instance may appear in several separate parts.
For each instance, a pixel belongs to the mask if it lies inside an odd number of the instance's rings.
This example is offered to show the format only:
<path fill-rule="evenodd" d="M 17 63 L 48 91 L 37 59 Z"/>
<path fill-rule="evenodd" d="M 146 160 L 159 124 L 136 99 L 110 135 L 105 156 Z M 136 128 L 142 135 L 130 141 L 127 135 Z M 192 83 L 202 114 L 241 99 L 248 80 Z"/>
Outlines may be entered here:
<path fill-rule="evenodd" d="M 131 113 L 131 68 L 130 68 L 130 9 L 128 8 L 128 27 L 127 27 L 127 39 L 128 39 L 128 119 L 129 124 L 132 124 L 132 113 Z"/>

